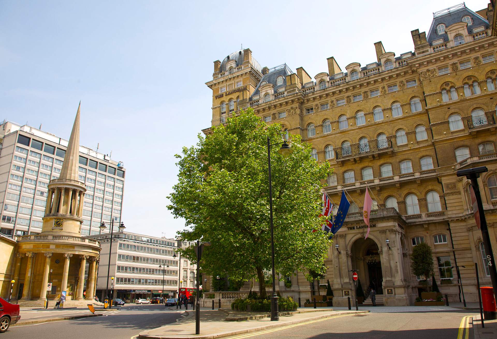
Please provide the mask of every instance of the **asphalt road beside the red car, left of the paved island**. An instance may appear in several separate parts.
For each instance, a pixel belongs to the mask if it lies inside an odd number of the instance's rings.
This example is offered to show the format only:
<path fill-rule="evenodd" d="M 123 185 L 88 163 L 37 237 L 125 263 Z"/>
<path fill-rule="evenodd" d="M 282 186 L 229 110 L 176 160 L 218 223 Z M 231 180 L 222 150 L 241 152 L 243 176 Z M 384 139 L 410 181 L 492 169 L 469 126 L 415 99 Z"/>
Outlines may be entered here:
<path fill-rule="evenodd" d="M 128 339 L 143 330 L 173 323 L 183 314 L 175 307 L 166 309 L 164 305 L 130 305 L 101 317 L 15 326 L 0 336 L 1 339 Z"/>

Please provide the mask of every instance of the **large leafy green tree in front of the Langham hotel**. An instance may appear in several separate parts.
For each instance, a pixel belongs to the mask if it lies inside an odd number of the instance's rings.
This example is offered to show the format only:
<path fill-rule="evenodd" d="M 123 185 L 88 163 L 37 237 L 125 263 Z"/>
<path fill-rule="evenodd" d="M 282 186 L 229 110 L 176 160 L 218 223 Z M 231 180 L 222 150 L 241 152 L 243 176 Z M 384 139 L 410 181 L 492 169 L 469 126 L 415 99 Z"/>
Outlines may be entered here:
<path fill-rule="evenodd" d="M 264 296 L 264 271 L 271 269 L 267 137 L 274 144 L 282 136 L 279 124 L 266 125 L 251 109 L 228 118 L 176 155 L 178 183 L 167 197 L 174 216 L 185 219 L 179 236 L 211 242 L 202 269 L 238 280 L 256 276 Z M 324 273 L 331 241 L 321 231 L 320 189 L 330 165 L 312 159 L 311 145 L 299 135 L 291 136 L 291 147 L 287 157 L 277 152 L 279 145 L 271 147 L 276 271 Z M 182 253 L 195 259 L 193 249 Z"/>

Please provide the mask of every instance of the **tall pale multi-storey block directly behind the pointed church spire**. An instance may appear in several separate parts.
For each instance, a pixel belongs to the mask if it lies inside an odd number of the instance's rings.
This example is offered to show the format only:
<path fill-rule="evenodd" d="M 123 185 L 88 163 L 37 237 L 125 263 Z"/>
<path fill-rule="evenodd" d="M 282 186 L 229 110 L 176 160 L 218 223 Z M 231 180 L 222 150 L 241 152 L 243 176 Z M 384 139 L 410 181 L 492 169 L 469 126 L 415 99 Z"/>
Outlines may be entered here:
<path fill-rule="evenodd" d="M 0 232 L 38 234 L 48 184 L 59 178 L 68 140 L 28 125 L 0 123 Z M 125 169 L 106 154 L 79 146 L 78 180 L 86 185 L 81 234 L 100 233 L 101 222 L 121 220 Z"/>

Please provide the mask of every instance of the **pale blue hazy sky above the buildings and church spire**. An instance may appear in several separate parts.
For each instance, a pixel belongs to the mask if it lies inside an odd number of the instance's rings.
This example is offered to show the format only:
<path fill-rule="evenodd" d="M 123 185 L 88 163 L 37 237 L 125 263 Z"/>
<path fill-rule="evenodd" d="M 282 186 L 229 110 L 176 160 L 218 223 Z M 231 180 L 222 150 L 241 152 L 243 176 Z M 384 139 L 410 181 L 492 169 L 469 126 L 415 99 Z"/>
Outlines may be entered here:
<path fill-rule="evenodd" d="M 380 40 L 397 56 L 414 50 L 411 30 L 459 1 L 0 0 L 0 118 L 68 138 L 81 100 L 81 143 L 127 169 L 128 230 L 172 237 L 184 226 L 165 207 L 174 154 L 210 126 L 213 61 L 243 44 L 262 67 L 311 76 L 331 56 L 364 66 Z"/>

